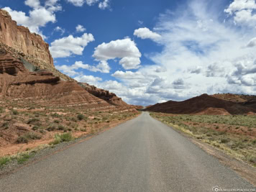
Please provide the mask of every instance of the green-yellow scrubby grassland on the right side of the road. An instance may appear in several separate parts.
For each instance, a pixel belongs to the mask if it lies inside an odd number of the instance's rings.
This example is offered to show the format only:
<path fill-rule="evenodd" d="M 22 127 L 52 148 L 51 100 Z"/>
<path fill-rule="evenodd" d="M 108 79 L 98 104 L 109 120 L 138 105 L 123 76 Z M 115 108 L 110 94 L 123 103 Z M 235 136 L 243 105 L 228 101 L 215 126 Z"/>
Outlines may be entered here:
<path fill-rule="evenodd" d="M 155 119 L 256 167 L 256 116 L 173 115 Z"/>

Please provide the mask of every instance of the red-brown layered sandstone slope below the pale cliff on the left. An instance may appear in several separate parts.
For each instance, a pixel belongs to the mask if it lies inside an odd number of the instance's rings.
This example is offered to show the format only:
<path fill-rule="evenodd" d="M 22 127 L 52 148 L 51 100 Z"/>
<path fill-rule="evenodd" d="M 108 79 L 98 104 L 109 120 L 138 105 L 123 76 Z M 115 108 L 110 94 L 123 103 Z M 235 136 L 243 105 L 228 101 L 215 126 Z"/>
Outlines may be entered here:
<path fill-rule="evenodd" d="M 5 50 L 0 50 L 0 96 L 20 101 L 32 99 L 44 106 L 110 106 L 75 81 L 62 81 L 47 70 L 29 72 L 21 60 L 13 58 Z"/>

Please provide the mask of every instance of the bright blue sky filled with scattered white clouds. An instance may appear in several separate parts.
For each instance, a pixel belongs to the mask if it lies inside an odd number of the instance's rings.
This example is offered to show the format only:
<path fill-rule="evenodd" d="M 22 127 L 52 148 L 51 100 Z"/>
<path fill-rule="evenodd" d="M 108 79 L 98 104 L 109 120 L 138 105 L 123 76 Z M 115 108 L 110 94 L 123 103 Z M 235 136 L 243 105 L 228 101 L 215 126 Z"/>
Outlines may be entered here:
<path fill-rule="evenodd" d="M 0 0 L 55 67 L 129 104 L 256 94 L 255 0 Z"/>

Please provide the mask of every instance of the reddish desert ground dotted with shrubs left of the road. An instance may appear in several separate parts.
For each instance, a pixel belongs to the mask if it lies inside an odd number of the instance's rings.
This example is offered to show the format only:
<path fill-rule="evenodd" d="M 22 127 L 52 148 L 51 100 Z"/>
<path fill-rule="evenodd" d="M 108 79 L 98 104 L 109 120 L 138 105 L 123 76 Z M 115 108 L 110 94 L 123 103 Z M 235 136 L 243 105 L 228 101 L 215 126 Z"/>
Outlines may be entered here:
<path fill-rule="evenodd" d="M 26 162 L 32 157 L 27 148 L 30 150 L 38 145 L 55 147 L 77 137 L 97 134 L 139 114 L 119 106 L 96 111 L 86 106 L 40 106 L 31 101 L 25 102 L 1 102 L 0 168 L 12 161 Z M 15 150 L 14 146 L 17 146 Z M 12 152 L 9 147 L 12 147 Z M 22 152 L 25 154 L 21 155 Z"/>

